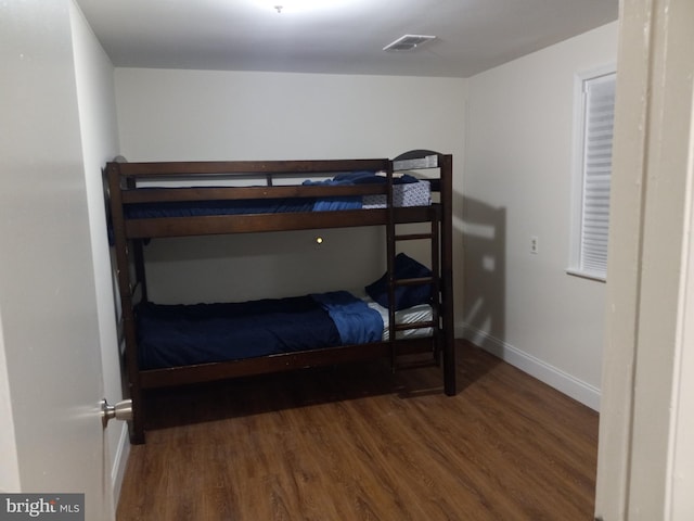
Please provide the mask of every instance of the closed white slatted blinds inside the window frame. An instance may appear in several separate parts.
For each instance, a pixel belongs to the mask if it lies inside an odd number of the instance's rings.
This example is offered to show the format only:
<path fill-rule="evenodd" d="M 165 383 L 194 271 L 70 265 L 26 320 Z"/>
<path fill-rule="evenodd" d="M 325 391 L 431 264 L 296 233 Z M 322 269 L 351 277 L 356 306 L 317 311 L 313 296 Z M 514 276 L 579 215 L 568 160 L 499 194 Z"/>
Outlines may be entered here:
<path fill-rule="evenodd" d="M 601 279 L 607 272 L 615 78 L 613 73 L 586 79 L 582 89 L 582 189 L 577 268 Z"/>

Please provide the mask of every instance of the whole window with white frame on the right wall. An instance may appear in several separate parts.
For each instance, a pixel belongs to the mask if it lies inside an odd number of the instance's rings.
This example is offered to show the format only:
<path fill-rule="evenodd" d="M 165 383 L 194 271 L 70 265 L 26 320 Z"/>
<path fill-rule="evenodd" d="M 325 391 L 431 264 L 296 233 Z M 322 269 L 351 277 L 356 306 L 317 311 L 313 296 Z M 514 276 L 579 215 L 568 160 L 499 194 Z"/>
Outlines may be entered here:
<path fill-rule="evenodd" d="M 574 229 L 569 272 L 607 274 L 609 181 L 615 119 L 614 69 L 577 78 Z"/>

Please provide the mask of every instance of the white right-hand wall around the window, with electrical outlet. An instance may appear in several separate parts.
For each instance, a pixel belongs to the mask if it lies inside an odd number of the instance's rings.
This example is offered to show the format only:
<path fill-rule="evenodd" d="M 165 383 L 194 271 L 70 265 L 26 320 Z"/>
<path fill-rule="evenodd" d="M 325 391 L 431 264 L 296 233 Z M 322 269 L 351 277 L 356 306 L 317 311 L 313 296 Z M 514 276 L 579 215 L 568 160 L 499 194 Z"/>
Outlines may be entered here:
<path fill-rule="evenodd" d="M 565 272 L 574 78 L 616 52 L 615 22 L 470 78 L 467 96 L 465 334 L 593 408 L 604 283 Z"/>

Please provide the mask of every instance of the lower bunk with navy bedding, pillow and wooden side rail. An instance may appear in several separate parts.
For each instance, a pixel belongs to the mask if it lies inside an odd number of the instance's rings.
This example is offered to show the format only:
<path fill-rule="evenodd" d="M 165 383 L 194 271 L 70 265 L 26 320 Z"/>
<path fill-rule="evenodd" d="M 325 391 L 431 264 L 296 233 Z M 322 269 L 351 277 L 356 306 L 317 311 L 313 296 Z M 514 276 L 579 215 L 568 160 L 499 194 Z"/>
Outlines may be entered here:
<path fill-rule="evenodd" d="M 432 272 L 399 254 L 395 275 L 425 279 Z M 383 357 L 390 358 L 394 369 L 403 360 L 439 364 L 445 335 L 432 284 L 397 288 L 393 297 L 389 309 L 384 275 L 363 293 L 340 290 L 192 305 L 141 302 L 133 309 L 137 371 L 131 381 L 137 384 L 131 390 L 139 395 L 158 387 Z M 448 394 L 453 387 L 453 382 L 446 383 Z M 141 443 L 144 412 L 142 406 L 134 410 L 132 441 Z"/>

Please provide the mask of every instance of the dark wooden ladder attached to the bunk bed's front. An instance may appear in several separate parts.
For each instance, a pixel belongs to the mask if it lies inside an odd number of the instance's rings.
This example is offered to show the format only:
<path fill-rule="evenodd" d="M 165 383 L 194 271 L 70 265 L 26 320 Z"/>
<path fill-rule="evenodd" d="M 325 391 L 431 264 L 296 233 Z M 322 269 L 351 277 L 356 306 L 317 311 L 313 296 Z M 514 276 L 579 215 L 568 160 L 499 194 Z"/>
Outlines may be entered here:
<path fill-rule="evenodd" d="M 440 298 L 440 243 L 439 243 L 439 226 L 440 226 L 440 214 L 432 207 L 432 216 L 429 220 L 429 230 L 426 232 L 419 233 L 398 233 L 397 219 L 396 219 L 396 208 L 393 201 L 393 169 L 388 173 L 387 176 L 387 206 L 388 206 L 388 223 L 386 225 L 386 243 L 387 243 L 387 271 L 388 271 L 388 338 L 390 341 L 390 367 L 393 371 L 403 370 L 403 369 L 417 369 L 422 367 L 433 367 L 440 366 L 440 351 L 441 351 L 441 342 L 440 342 L 440 328 L 439 328 L 439 305 L 438 300 Z M 402 226 L 402 225 L 400 225 Z M 432 259 L 432 276 L 430 277 L 421 277 L 413 279 L 396 279 L 395 278 L 395 257 L 398 253 L 397 243 L 403 241 L 420 241 L 420 240 L 428 240 L 430 241 L 430 259 Z M 430 320 L 421 320 L 416 322 L 409 323 L 396 323 L 396 309 L 395 305 L 395 293 L 396 289 L 403 285 L 421 285 L 428 284 L 432 287 L 432 298 L 436 298 L 436 303 L 433 302 L 432 309 L 433 315 Z M 403 360 L 408 355 L 399 355 L 397 343 L 395 342 L 397 335 L 401 331 L 413 330 L 413 329 L 432 329 L 434 348 L 432 350 L 430 357 L 427 355 L 426 357 L 422 357 L 421 355 L 416 358 Z"/>

